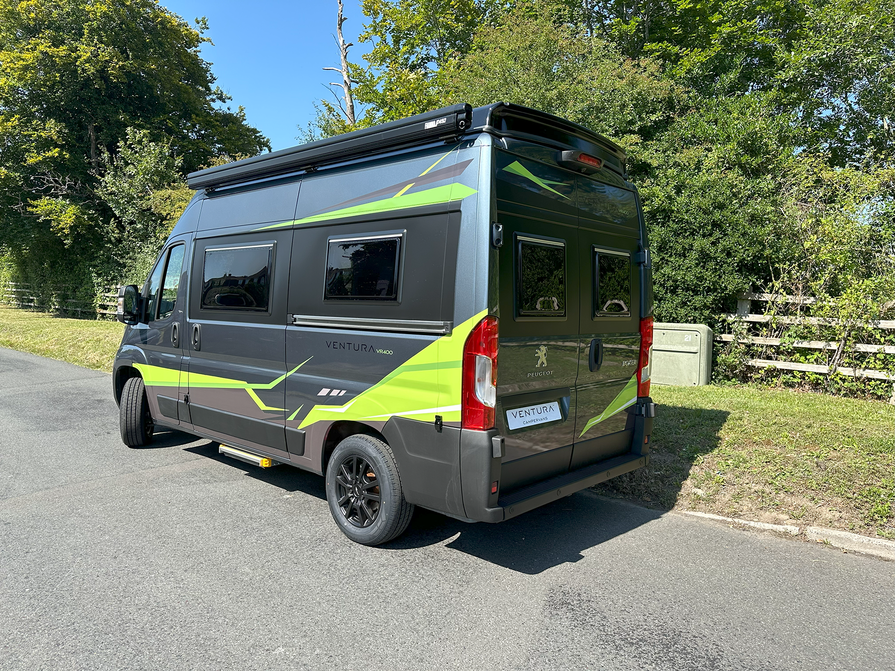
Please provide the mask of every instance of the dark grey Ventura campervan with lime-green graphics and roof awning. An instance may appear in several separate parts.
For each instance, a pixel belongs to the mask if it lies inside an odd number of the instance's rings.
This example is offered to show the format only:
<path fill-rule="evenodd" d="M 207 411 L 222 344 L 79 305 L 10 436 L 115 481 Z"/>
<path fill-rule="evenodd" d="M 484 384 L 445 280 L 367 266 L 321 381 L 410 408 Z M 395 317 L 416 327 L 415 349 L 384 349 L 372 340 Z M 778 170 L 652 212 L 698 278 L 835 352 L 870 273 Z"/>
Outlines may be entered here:
<path fill-rule="evenodd" d="M 652 271 L 624 152 L 521 106 L 459 105 L 189 175 L 115 399 L 326 477 L 360 543 L 414 505 L 500 522 L 644 466 Z"/>

